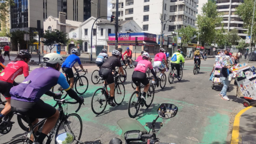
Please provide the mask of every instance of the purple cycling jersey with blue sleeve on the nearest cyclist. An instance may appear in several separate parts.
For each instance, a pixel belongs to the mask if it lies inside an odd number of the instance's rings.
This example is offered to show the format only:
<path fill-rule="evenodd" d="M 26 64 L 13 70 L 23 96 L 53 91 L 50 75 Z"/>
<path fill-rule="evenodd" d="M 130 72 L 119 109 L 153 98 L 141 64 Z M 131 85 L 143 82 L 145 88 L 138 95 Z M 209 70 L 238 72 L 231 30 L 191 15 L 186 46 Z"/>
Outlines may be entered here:
<path fill-rule="evenodd" d="M 28 81 L 31 81 L 28 84 Z M 11 99 L 37 102 L 43 94 L 59 84 L 65 91 L 70 89 L 65 76 L 51 67 L 37 68 L 31 71 L 28 77 L 19 85 L 10 90 Z"/>

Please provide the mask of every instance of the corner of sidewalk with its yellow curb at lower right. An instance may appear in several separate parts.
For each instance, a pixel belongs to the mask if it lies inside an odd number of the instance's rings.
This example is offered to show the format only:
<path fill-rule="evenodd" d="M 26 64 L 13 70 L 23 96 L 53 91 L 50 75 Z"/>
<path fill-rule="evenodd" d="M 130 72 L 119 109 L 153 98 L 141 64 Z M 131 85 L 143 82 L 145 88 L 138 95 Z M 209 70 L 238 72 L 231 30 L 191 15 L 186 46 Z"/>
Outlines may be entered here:
<path fill-rule="evenodd" d="M 256 143 L 256 107 L 247 107 L 235 117 L 231 144 Z"/>

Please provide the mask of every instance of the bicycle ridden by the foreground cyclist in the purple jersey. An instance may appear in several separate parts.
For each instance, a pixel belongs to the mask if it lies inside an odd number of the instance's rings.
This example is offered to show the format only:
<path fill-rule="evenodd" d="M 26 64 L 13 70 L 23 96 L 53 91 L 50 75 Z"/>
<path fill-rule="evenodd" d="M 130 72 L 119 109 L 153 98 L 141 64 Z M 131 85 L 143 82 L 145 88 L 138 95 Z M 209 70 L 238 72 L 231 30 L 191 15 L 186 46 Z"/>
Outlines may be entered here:
<path fill-rule="evenodd" d="M 55 101 L 57 101 L 58 103 L 58 110 L 60 111 L 60 115 L 58 118 L 57 123 L 55 124 L 55 126 L 53 127 L 53 129 L 50 131 L 50 133 L 48 134 L 49 136 L 47 136 L 47 141 L 46 144 L 50 144 L 53 138 L 53 135 L 55 134 L 55 138 L 57 138 L 59 133 L 63 133 L 63 132 L 70 132 L 73 135 L 75 135 L 75 138 L 77 140 L 80 140 L 81 135 L 82 135 L 82 130 L 83 130 L 83 123 L 82 123 L 82 119 L 78 114 L 67 114 L 67 109 L 66 108 L 66 114 L 64 112 L 65 108 L 63 109 L 62 104 L 63 105 L 67 105 L 69 104 L 76 104 L 78 102 L 70 102 L 70 101 L 66 101 L 65 99 L 61 99 L 61 100 L 57 100 L 54 99 Z M 77 110 L 75 111 L 77 113 L 77 111 L 81 108 L 82 103 L 79 103 L 79 106 L 77 108 Z M 38 123 L 36 123 L 34 126 L 31 124 L 31 122 L 29 121 L 29 118 L 26 115 L 22 115 L 20 113 L 18 113 L 18 111 L 14 111 L 14 114 L 17 114 L 18 116 L 21 117 L 26 117 L 27 121 L 29 123 L 29 132 L 28 134 L 25 135 L 25 137 L 23 138 L 18 138 L 18 139 L 14 139 L 11 142 L 9 142 L 10 144 L 14 144 L 14 143 L 33 143 L 33 141 L 30 140 L 31 135 L 35 135 L 34 133 L 34 129 L 35 127 L 44 124 L 47 118 L 42 119 L 41 121 L 39 121 Z M 77 118 L 77 122 L 74 122 L 75 118 Z M 73 124 L 76 125 L 77 129 L 73 130 L 71 129 L 70 126 L 72 126 Z M 80 124 L 80 126 L 77 126 L 77 124 Z M 37 140 L 37 137 L 34 137 L 35 141 Z M 55 142 L 57 143 L 57 142 Z M 78 141 L 76 142 L 76 144 L 78 144 Z"/>

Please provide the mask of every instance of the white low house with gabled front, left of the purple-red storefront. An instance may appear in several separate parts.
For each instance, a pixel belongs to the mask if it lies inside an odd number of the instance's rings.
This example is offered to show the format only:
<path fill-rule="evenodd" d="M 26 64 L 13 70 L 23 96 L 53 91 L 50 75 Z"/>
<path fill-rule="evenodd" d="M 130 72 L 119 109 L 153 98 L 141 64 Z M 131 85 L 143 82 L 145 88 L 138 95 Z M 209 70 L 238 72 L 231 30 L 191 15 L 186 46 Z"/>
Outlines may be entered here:
<path fill-rule="evenodd" d="M 82 51 L 97 53 L 103 48 L 107 49 L 107 41 L 109 39 L 109 34 L 115 33 L 115 21 L 110 22 L 105 19 L 98 19 L 97 23 L 92 25 L 96 18 L 91 17 L 81 23 L 79 28 L 71 31 L 69 33 L 69 38 L 74 38 L 76 40 L 81 39 L 83 41 Z M 91 46 L 91 31 L 92 31 L 92 46 Z M 118 33 L 141 33 L 142 28 L 134 20 L 119 21 L 118 23 Z M 97 49 L 95 49 L 97 47 Z"/>

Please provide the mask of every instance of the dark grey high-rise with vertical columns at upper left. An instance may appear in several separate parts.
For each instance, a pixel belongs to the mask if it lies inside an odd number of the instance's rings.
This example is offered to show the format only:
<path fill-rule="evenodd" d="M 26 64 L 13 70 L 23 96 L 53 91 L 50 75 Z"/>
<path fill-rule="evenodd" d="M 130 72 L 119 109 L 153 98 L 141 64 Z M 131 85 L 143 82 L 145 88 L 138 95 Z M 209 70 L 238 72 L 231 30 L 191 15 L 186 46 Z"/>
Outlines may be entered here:
<path fill-rule="evenodd" d="M 14 0 L 14 6 L 11 7 L 10 31 L 17 29 L 28 31 L 31 28 L 37 28 L 37 20 L 41 20 L 41 28 L 43 29 L 43 21 L 50 15 L 52 17 L 58 17 L 60 11 L 67 13 L 66 19 L 68 20 L 83 22 L 91 16 L 107 16 L 107 1 Z"/>

